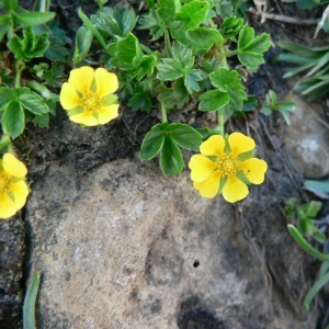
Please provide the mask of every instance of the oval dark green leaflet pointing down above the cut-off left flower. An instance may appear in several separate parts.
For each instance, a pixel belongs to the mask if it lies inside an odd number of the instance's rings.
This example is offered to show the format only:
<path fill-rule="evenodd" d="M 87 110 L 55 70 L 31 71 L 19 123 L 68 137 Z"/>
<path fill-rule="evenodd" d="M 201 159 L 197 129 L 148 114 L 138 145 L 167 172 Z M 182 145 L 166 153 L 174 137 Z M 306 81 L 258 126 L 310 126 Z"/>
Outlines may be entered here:
<path fill-rule="evenodd" d="M 18 100 L 13 100 L 5 106 L 2 115 L 2 124 L 12 138 L 16 138 L 23 133 L 24 120 L 24 111 Z"/>

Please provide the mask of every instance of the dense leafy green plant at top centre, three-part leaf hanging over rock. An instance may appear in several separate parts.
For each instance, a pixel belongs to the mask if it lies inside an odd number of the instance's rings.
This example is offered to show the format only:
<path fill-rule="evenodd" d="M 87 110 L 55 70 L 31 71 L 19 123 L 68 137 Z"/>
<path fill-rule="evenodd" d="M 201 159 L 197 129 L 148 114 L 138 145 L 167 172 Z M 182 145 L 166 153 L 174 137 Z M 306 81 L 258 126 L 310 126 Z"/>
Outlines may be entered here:
<path fill-rule="evenodd" d="M 219 24 L 220 5 L 212 0 L 146 3 L 147 11 L 139 18 L 120 5 L 101 7 L 90 19 L 81 10 L 79 15 L 104 48 L 104 65 L 116 72 L 122 100 L 134 111 L 159 109 L 162 123 L 146 135 L 140 158 L 149 160 L 159 154 L 162 172 L 173 175 L 184 166 L 180 148 L 198 151 L 202 139 L 224 136 L 224 123 L 242 112 L 247 93 L 235 67 L 256 70 L 264 63 L 263 53 L 271 43 L 265 33 L 256 36 L 242 19 L 230 16 Z M 147 31 L 149 38 L 141 31 Z M 163 48 L 158 41 L 163 41 Z M 79 60 L 88 55 L 81 56 L 83 52 L 77 49 L 90 48 L 84 41 L 81 44 L 76 47 Z M 229 63 L 230 58 L 235 61 Z M 200 111 L 217 113 L 216 128 L 198 131 L 168 123 L 168 113 L 194 99 Z"/>

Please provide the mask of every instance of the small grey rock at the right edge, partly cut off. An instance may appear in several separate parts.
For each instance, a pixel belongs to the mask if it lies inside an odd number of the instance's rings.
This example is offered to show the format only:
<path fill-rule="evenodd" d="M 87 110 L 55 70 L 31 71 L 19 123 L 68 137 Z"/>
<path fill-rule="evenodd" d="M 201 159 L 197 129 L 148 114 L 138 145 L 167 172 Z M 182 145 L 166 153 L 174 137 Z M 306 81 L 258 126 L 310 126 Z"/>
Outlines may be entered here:
<path fill-rule="evenodd" d="M 319 115 L 320 104 L 307 103 L 294 94 L 296 111 L 291 115 L 291 126 L 285 135 L 285 151 L 294 167 L 307 178 L 322 178 L 329 174 L 328 127 Z"/>

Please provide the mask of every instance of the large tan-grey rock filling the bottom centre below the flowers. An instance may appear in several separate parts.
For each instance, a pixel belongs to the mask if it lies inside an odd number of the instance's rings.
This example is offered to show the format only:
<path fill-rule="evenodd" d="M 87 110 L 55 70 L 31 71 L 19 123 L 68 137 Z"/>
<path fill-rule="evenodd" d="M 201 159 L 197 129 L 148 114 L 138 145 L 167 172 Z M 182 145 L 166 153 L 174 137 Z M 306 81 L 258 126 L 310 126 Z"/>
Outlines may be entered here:
<path fill-rule="evenodd" d="M 315 328 L 299 306 L 307 258 L 276 196 L 273 212 L 261 202 L 279 177 L 232 206 L 138 158 L 79 178 L 50 166 L 26 207 L 38 328 Z"/>

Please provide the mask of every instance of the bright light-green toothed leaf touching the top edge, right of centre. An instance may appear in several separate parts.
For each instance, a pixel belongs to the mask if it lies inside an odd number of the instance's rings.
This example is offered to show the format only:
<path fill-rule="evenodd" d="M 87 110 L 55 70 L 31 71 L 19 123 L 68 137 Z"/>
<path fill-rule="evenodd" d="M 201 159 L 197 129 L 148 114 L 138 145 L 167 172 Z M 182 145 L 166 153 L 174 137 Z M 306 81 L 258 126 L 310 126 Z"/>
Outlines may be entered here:
<path fill-rule="evenodd" d="M 204 22 L 208 12 L 209 5 L 206 1 L 192 1 L 183 5 L 174 16 L 174 20 L 182 21 L 180 30 L 186 32 L 196 29 Z"/>

